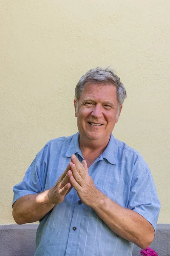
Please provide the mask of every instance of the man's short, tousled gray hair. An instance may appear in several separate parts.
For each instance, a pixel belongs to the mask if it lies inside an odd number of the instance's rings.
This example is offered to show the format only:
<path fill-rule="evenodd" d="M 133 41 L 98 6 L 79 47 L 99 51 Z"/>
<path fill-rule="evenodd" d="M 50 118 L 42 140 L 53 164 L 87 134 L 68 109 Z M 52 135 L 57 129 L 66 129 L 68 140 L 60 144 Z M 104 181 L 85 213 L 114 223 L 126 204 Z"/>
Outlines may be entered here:
<path fill-rule="evenodd" d="M 75 99 L 77 101 L 79 101 L 83 87 L 86 83 L 105 83 L 113 84 L 114 86 L 116 86 L 118 111 L 120 105 L 123 104 L 124 99 L 127 97 L 125 87 L 120 81 L 119 76 L 117 76 L 110 67 L 107 67 L 105 69 L 103 69 L 102 67 L 96 67 L 94 69 L 88 70 L 85 75 L 79 79 L 75 88 Z"/>

